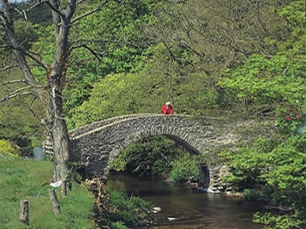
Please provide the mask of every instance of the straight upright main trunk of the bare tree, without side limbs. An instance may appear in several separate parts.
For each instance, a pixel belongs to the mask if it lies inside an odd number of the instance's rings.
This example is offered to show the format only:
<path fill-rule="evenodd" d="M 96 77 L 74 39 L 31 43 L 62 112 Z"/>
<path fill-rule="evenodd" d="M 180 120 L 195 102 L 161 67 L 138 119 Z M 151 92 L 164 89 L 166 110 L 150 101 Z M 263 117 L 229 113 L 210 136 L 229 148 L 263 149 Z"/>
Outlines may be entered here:
<path fill-rule="evenodd" d="M 57 1 L 52 1 L 58 8 Z M 74 10 L 74 9 L 73 9 Z M 72 148 L 68 136 L 67 125 L 63 115 L 62 90 L 65 87 L 68 66 L 68 34 L 69 20 L 61 21 L 60 16 L 53 12 L 56 49 L 52 67 L 47 73 L 49 94 L 47 98 L 48 131 L 53 145 L 54 176 L 53 180 L 65 180 L 69 171 L 68 162 L 71 159 Z"/>

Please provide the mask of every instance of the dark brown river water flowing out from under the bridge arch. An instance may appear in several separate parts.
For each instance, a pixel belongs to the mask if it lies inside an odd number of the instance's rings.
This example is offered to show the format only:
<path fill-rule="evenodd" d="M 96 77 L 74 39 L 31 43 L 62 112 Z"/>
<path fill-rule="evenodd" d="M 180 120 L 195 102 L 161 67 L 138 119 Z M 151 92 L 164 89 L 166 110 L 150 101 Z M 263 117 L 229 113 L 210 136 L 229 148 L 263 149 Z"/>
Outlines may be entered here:
<path fill-rule="evenodd" d="M 155 214 L 159 229 L 262 228 L 252 222 L 253 213 L 261 208 L 258 203 L 201 193 L 190 187 L 152 178 L 140 179 L 126 173 L 111 172 L 107 187 L 139 196 L 161 207 L 162 211 Z M 168 217 L 176 219 L 168 220 Z"/>

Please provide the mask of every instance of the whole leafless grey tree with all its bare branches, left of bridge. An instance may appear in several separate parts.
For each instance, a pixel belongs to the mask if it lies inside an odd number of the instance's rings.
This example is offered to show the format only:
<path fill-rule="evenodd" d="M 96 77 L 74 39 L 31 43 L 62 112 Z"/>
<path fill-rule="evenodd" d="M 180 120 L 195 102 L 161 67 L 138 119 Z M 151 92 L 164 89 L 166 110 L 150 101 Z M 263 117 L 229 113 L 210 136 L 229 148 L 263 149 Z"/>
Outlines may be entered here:
<path fill-rule="evenodd" d="M 13 9 L 20 13 L 24 20 L 28 20 L 27 13 L 40 4 L 46 4 L 52 10 L 54 36 L 55 36 L 55 52 L 51 66 L 45 64 L 39 53 L 27 51 L 22 47 L 14 30 L 14 19 L 12 16 L 12 5 L 9 0 L 0 0 L 2 9 L 0 10 L 0 24 L 2 31 L 6 37 L 6 43 L 0 45 L 0 48 L 12 50 L 15 62 L 8 66 L 1 67 L 0 71 L 6 71 L 12 67 L 18 66 L 21 69 L 23 79 L 9 80 L 0 83 L 3 85 L 23 85 L 15 87 L 5 96 L 0 98 L 0 102 L 18 97 L 32 96 L 34 101 L 39 99 L 45 109 L 45 117 L 42 124 L 46 127 L 50 135 L 54 150 L 54 177 L 53 180 L 63 180 L 69 171 L 68 162 L 72 159 L 72 148 L 68 136 L 65 118 L 63 116 L 63 96 L 62 91 L 65 87 L 66 72 L 68 67 L 69 55 L 72 49 L 83 47 L 89 49 L 95 56 L 101 53 L 90 49 L 86 43 L 78 43 L 71 46 L 68 35 L 71 27 L 79 22 L 79 20 L 95 13 L 103 8 L 110 0 L 101 2 L 95 9 L 91 9 L 81 15 L 75 15 L 76 8 L 86 0 L 68 0 L 67 5 L 61 5 L 60 0 L 36 0 L 28 9 Z M 30 63 L 34 62 L 43 68 L 47 84 L 41 84 L 35 80 Z M 1 96 L 1 95 L 0 95 Z M 31 102 L 32 103 L 32 102 Z"/>

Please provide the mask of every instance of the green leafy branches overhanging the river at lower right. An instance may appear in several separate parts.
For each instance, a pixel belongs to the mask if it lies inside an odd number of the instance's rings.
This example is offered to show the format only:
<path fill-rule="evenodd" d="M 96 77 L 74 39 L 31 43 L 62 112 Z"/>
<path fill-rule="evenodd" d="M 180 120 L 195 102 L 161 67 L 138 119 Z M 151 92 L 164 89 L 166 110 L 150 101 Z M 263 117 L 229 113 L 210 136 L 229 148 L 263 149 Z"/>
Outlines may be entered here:
<path fill-rule="evenodd" d="M 257 213 L 256 222 L 266 228 L 306 226 L 306 134 L 293 135 L 284 142 L 258 140 L 253 147 L 223 152 L 222 156 L 229 160 L 232 171 L 226 180 L 237 190 L 244 190 L 247 198 L 285 209 L 276 216 Z"/>

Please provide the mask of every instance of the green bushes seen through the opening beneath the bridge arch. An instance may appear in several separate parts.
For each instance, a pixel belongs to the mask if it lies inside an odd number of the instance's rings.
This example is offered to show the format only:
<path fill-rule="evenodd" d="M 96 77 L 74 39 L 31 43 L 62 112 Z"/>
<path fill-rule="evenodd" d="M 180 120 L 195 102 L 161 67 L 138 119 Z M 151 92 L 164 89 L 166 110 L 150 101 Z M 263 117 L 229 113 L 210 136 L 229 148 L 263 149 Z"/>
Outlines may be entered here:
<path fill-rule="evenodd" d="M 154 136 L 127 147 L 112 164 L 115 171 L 132 171 L 138 176 L 159 176 L 175 182 L 199 179 L 196 155 L 165 136 Z"/>

